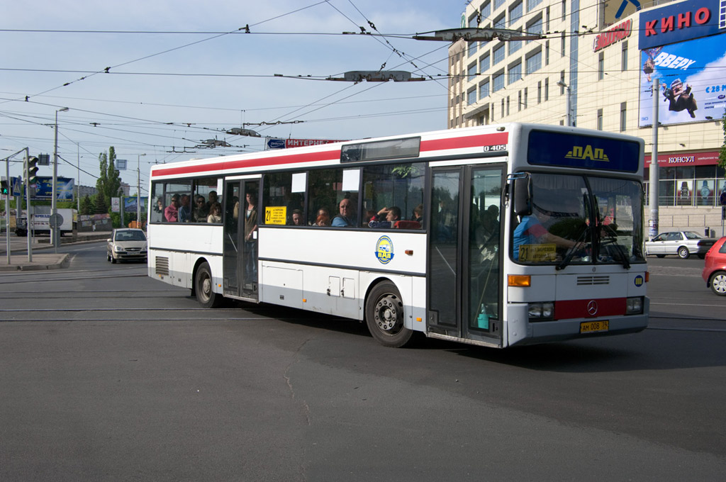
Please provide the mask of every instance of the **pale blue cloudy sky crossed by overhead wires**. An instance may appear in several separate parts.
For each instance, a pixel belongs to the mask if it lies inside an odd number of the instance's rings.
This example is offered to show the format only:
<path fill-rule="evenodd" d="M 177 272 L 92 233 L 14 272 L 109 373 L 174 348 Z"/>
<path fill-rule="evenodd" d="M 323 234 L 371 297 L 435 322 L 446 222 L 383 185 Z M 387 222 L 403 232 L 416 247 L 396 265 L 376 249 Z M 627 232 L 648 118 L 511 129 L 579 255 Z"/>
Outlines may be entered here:
<path fill-rule="evenodd" d="M 25 147 L 52 157 L 57 115 L 59 176 L 95 186 L 99 153 L 113 146 L 128 160 L 121 178 L 131 193 L 140 167 L 144 195 L 153 163 L 258 152 L 265 136 L 362 139 L 444 129 L 448 44 L 410 37 L 459 27 L 465 5 L 4 1 L 0 158 Z M 427 80 L 323 80 L 382 66 Z M 235 127 L 261 137 L 225 133 Z M 208 139 L 232 147 L 197 147 Z M 22 160 L 12 157 L 11 176 L 20 176 Z M 5 166 L 0 170 L 4 176 Z M 52 168 L 42 166 L 38 175 L 51 176 Z"/>

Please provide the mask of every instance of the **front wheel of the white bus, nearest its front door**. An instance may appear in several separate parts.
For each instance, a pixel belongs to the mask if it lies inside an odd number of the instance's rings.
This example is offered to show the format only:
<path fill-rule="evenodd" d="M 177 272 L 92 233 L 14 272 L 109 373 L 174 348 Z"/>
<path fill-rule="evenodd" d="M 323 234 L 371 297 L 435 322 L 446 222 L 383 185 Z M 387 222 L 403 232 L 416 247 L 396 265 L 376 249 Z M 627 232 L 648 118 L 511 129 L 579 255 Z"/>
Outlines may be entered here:
<path fill-rule="evenodd" d="M 368 331 L 383 346 L 399 348 L 408 343 L 413 334 L 404 326 L 404 304 L 396 285 L 390 281 L 380 282 L 370 290 L 365 319 Z"/>

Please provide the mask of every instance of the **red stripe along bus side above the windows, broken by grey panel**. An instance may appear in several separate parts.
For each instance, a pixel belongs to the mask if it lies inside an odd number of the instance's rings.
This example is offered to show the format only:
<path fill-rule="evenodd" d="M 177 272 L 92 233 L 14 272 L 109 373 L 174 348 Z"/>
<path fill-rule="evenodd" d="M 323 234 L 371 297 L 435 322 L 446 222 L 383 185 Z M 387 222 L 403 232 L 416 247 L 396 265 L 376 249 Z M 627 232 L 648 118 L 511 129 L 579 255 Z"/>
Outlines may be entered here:
<path fill-rule="evenodd" d="M 432 139 L 421 142 L 421 152 L 507 144 L 507 139 L 508 134 L 506 132 L 497 132 L 495 134 L 481 134 L 478 136 Z M 200 174 L 210 171 L 224 171 L 228 169 L 242 169 L 261 166 L 280 166 L 280 164 L 311 163 L 320 161 L 333 161 L 339 159 L 340 149 L 323 152 L 308 152 L 306 154 L 279 155 L 264 158 L 219 160 L 219 162 L 197 164 L 195 166 L 158 168 L 155 169 L 155 171 L 152 173 L 152 177 L 181 176 L 184 174 Z"/>

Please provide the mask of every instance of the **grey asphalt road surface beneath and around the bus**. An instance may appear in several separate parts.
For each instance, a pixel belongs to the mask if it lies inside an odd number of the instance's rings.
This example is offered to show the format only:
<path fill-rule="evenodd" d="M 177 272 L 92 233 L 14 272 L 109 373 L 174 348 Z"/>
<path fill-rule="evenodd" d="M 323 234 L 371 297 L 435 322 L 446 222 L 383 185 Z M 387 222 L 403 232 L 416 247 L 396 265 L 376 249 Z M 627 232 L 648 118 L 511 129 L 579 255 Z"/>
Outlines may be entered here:
<path fill-rule="evenodd" d="M 726 299 L 653 260 L 645 332 L 495 351 L 203 310 L 103 245 L 0 274 L 7 481 L 720 480 Z M 650 261 L 650 260 L 649 260 Z"/>

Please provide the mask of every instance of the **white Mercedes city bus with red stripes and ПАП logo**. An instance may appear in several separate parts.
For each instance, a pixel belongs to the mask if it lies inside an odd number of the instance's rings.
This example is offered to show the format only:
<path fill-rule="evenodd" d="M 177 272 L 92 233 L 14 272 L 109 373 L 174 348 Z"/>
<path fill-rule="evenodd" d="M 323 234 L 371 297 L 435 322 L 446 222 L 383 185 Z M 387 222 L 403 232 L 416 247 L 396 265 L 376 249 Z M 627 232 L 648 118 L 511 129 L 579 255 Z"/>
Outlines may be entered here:
<path fill-rule="evenodd" d="M 521 123 L 154 166 L 148 272 L 386 346 L 638 332 L 642 180 L 642 139 Z"/>

